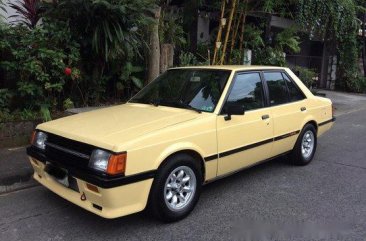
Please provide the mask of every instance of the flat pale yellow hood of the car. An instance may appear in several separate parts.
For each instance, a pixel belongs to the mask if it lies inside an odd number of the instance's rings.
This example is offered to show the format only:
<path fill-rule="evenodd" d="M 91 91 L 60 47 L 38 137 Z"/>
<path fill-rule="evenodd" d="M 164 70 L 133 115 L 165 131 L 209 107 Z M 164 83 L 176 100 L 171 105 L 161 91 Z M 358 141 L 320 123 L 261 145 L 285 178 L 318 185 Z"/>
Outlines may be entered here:
<path fill-rule="evenodd" d="M 198 118 L 191 110 L 128 103 L 46 122 L 37 129 L 101 148 L 118 145 Z"/>

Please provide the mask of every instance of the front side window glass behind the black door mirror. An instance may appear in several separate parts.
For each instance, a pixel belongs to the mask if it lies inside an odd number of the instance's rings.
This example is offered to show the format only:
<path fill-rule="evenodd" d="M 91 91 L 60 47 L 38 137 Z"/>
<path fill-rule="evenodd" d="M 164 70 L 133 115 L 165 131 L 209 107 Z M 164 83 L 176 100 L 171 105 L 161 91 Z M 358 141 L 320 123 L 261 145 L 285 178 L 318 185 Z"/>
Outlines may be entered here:
<path fill-rule="evenodd" d="M 264 106 L 262 81 L 259 73 L 244 73 L 236 76 L 225 106 L 239 104 L 245 111 Z"/>

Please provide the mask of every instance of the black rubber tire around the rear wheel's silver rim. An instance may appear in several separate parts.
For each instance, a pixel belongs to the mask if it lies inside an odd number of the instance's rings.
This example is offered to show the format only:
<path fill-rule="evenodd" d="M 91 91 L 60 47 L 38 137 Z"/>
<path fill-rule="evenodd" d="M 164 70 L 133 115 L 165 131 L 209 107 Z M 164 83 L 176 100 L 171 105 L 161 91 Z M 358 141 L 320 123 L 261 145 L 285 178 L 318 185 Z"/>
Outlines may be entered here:
<path fill-rule="evenodd" d="M 304 136 L 307 134 L 312 133 L 312 141 L 313 141 L 313 148 L 311 149 L 311 152 L 309 151 L 308 154 L 303 154 L 302 152 L 302 145 L 303 145 L 303 139 Z M 297 166 L 305 166 L 308 165 L 314 158 L 315 152 L 316 152 L 316 146 L 317 146 L 317 134 L 316 129 L 314 125 L 312 124 L 306 124 L 304 128 L 302 129 L 299 137 L 297 138 L 296 144 L 294 149 L 292 150 L 290 154 L 290 161 L 292 164 Z"/>

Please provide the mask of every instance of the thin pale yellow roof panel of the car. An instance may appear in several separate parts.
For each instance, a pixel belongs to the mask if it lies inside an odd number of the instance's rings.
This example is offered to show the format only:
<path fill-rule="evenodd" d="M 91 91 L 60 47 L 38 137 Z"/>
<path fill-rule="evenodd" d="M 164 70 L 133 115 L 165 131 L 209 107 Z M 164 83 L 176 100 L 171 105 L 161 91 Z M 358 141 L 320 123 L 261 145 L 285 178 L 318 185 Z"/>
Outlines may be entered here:
<path fill-rule="evenodd" d="M 213 69 L 213 70 L 231 70 L 231 71 L 245 71 L 245 70 L 269 70 L 269 69 L 286 69 L 278 66 L 261 66 L 261 65 L 204 65 L 204 66 L 186 66 L 176 67 L 171 69 Z"/>

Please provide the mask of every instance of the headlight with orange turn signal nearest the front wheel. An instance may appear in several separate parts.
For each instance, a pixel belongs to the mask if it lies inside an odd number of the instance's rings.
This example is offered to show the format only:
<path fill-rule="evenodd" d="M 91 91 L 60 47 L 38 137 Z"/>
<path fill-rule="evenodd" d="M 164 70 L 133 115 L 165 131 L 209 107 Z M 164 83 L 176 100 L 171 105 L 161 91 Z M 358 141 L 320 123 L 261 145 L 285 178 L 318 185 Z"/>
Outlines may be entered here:
<path fill-rule="evenodd" d="M 127 154 L 113 154 L 108 151 L 96 149 L 89 160 L 89 168 L 102 171 L 107 174 L 124 174 L 126 169 Z"/>

